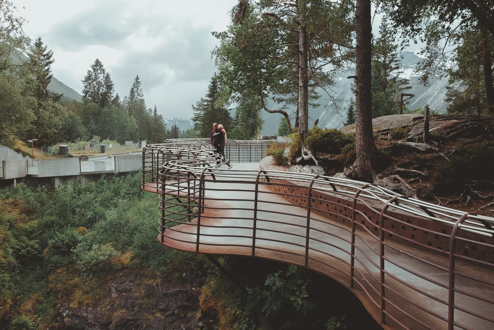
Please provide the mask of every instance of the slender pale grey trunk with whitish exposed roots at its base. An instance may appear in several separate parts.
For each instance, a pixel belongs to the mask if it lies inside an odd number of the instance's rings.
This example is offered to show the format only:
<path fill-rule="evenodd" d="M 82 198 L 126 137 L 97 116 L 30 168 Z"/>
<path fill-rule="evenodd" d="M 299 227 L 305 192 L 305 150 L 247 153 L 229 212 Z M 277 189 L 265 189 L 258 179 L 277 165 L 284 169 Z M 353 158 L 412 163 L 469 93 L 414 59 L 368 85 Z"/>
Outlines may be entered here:
<path fill-rule="evenodd" d="M 299 16 L 299 21 L 303 24 L 303 16 Z M 302 25 L 298 30 L 298 53 L 300 58 L 299 73 L 298 73 L 298 135 L 300 138 L 300 148 L 302 155 L 297 159 L 313 159 L 317 164 L 316 158 L 305 145 L 307 134 L 309 132 L 309 95 L 308 95 L 308 75 L 307 75 L 307 30 Z"/>

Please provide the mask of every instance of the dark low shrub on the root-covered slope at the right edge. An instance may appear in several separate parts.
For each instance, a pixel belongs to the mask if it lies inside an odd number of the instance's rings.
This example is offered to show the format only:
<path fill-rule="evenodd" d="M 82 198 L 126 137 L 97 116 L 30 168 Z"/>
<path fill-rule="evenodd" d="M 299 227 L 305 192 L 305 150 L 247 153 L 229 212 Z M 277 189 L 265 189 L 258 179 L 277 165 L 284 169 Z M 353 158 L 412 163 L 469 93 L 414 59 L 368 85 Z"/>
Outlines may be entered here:
<path fill-rule="evenodd" d="M 462 147 L 433 176 L 435 191 L 458 192 L 472 180 L 494 179 L 494 149 L 487 146 Z"/>

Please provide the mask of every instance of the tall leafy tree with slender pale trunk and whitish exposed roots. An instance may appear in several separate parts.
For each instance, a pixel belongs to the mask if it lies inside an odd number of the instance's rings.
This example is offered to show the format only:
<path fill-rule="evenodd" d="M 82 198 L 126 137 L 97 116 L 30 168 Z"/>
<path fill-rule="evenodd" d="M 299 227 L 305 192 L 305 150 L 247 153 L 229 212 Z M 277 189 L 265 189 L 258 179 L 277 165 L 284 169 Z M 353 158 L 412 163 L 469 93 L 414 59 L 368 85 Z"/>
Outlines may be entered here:
<path fill-rule="evenodd" d="M 351 57 L 346 46 L 352 47 L 352 10 L 351 2 L 240 1 L 228 31 L 215 33 L 221 39 L 216 64 L 228 97 L 259 97 L 264 110 L 285 116 L 290 132 L 288 113 L 268 109 L 266 99 L 281 95 L 274 99 L 297 104 L 301 158 L 312 157 L 305 147 L 308 107 L 311 95 L 318 96 L 311 90 L 333 84 L 331 73 Z"/>

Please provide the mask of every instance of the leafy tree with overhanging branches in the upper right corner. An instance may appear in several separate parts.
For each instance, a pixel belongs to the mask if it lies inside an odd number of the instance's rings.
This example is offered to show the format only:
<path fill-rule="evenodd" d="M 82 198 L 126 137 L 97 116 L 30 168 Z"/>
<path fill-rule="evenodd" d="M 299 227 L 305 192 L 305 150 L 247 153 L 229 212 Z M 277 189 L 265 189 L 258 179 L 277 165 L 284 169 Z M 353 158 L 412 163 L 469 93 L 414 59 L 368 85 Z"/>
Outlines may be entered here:
<path fill-rule="evenodd" d="M 420 38 L 426 46 L 421 53 L 417 72 L 427 84 L 430 77 L 444 75 L 451 60 L 455 60 L 457 47 L 471 32 L 480 34 L 480 55 L 487 109 L 494 113 L 494 85 L 492 48 L 489 39 L 494 37 L 493 0 L 389 0 L 388 13 L 395 27 L 402 28 L 405 40 L 416 42 Z M 451 49 L 453 48 L 453 49 Z M 461 56 L 461 55 L 460 55 Z"/>

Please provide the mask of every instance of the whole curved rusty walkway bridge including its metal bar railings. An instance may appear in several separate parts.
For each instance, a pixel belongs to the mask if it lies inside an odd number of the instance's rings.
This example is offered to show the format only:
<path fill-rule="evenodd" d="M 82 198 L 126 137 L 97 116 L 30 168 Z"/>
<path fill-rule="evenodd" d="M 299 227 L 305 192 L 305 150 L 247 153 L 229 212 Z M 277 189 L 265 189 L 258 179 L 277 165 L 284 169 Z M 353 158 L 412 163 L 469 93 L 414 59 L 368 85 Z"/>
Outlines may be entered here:
<path fill-rule="evenodd" d="M 229 140 L 227 148 L 258 162 L 269 144 Z M 232 166 L 206 139 L 145 147 L 142 189 L 160 194 L 158 240 L 317 271 L 384 329 L 494 329 L 494 218 L 286 172 L 268 159 Z"/>

